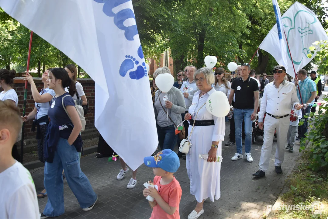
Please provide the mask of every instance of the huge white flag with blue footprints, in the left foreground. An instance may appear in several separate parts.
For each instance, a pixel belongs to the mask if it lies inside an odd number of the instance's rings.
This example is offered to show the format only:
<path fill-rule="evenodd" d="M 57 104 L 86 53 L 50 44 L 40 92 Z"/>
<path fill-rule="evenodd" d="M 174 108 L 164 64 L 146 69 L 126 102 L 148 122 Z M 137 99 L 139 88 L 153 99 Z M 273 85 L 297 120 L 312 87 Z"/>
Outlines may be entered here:
<path fill-rule="evenodd" d="M 95 81 L 95 127 L 135 170 L 158 144 L 131 0 L 0 0 L 0 7 Z"/>

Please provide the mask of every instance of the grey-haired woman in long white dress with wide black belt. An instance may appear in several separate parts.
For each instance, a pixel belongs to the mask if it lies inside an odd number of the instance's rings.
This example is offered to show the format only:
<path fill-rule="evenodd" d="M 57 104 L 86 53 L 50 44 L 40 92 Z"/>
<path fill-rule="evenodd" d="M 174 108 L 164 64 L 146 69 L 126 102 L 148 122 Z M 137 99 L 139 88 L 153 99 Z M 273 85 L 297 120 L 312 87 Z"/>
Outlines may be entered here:
<path fill-rule="evenodd" d="M 212 88 L 214 75 L 211 69 L 201 68 L 194 74 L 198 87 L 193 103 L 186 113 L 185 120 L 189 120 L 191 127 L 191 148 L 187 154 L 186 165 L 190 179 L 190 194 L 195 195 L 197 204 L 189 214 L 188 219 L 198 218 L 204 213 L 204 200 L 212 202 L 220 198 L 220 169 L 221 163 L 215 162 L 216 156 L 221 156 L 221 143 L 224 141 L 225 121 L 206 110 L 206 100 L 215 92 Z M 198 113 L 198 114 L 197 114 Z M 197 114 L 197 116 L 196 116 Z M 189 138 L 188 138 L 189 139 Z M 208 159 L 199 158 L 199 154 L 208 154 Z"/>

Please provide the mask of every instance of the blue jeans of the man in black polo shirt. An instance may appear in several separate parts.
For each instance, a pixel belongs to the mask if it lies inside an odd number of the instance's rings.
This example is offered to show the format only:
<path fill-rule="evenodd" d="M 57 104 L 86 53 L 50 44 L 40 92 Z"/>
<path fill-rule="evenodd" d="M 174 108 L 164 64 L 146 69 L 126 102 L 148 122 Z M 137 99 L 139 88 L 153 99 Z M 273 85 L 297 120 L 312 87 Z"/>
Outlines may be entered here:
<path fill-rule="evenodd" d="M 245 121 L 245 153 L 251 152 L 252 146 L 252 120 L 251 115 L 254 112 L 253 109 L 234 109 L 235 119 L 235 135 L 236 135 L 236 148 L 237 153 L 242 154 L 242 122 Z"/>

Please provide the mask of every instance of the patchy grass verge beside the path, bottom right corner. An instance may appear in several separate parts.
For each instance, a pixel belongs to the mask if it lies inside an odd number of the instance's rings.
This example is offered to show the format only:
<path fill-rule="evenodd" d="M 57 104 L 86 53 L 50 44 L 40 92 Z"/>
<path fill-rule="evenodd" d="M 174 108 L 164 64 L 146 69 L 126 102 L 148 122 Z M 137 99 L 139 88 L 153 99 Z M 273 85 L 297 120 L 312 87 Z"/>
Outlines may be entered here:
<path fill-rule="evenodd" d="M 286 186 L 289 187 L 289 191 L 282 195 L 280 205 L 284 209 L 273 210 L 270 218 L 328 219 L 327 170 L 313 172 L 309 169 L 307 166 L 310 153 L 309 148 L 302 153 L 300 165 L 287 179 Z M 267 218 L 266 215 L 263 215 L 263 218 Z"/>

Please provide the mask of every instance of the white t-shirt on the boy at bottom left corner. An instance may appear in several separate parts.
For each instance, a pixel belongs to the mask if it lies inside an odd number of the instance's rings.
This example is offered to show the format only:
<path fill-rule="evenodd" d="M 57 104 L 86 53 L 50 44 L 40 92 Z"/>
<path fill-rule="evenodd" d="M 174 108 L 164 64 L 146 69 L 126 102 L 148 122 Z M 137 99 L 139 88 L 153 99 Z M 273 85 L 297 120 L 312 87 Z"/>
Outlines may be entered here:
<path fill-rule="evenodd" d="M 39 204 L 30 172 L 19 162 L 0 173 L 0 218 L 40 218 Z"/>

